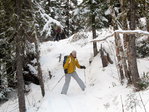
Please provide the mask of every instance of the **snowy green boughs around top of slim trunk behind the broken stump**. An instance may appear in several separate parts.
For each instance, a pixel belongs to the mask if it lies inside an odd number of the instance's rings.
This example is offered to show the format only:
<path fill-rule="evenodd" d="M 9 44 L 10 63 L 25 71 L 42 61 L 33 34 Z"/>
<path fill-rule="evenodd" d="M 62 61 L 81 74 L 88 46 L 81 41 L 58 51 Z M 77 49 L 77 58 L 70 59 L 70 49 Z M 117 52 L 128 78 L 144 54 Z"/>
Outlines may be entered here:
<path fill-rule="evenodd" d="M 90 27 L 91 26 L 91 18 L 90 16 L 92 14 L 95 15 L 95 22 L 97 23 L 95 25 L 96 29 L 100 29 L 103 27 L 108 27 L 109 20 L 107 15 L 105 14 L 106 10 L 108 9 L 108 6 L 106 4 L 105 0 L 84 0 L 80 6 L 79 11 L 76 16 L 80 18 L 80 23 L 83 26 L 83 28 Z"/>

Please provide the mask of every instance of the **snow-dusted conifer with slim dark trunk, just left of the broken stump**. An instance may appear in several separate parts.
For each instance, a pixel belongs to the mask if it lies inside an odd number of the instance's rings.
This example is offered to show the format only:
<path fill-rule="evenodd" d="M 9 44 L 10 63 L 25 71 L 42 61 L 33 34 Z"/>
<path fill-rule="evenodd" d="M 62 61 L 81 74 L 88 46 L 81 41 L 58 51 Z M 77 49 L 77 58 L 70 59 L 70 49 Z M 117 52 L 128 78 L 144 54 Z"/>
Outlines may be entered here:
<path fill-rule="evenodd" d="M 85 26 L 91 28 L 93 39 L 95 39 L 97 37 L 96 30 L 104 25 L 104 20 L 107 20 L 104 16 L 106 5 L 104 5 L 104 1 L 102 0 L 84 0 L 81 6 L 82 16 L 87 18 L 82 19 L 84 21 L 83 23 L 85 23 Z M 98 53 L 96 42 L 93 42 L 93 51 L 94 56 L 96 56 Z"/>

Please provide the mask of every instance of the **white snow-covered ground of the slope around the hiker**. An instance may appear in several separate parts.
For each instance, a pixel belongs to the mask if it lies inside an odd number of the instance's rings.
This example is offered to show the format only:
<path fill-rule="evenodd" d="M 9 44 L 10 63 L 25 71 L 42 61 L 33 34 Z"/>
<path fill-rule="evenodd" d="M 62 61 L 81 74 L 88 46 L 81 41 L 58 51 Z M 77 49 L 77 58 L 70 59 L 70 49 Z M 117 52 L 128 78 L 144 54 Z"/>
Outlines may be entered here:
<path fill-rule="evenodd" d="M 100 39 L 111 32 L 107 29 L 98 32 Z M 72 42 L 72 37 L 59 42 L 45 42 L 41 44 L 41 66 L 45 80 L 46 95 L 42 99 L 40 88 L 30 85 L 32 91 L 26 95 L 27 112 L 149 112 L 149 90 L 133 92 L 132 87 L 121 85 L 116 63 L 106 68 L 102 67 L 100 55 L 97 55 L 91 64 L 92 58 L 91 33 L 86 33 L 89 38 Z M 113 38 L 103 45 L 115 62 Z M 69 55 L 72 50 L 77 51 L 77 57 L 86 70 L 77 69 L 79 77 L 85 82 L 87 89 L 81 91 L 74 79 L 71 79 L 67 95 L 61 95 L 64 78 L 62 60 L 64 55 Z M 59 56 L 62 59 L 59 62 Z M 138 59 L 140 75 L 149 72 L 149 59 Z M 48 71 L 53 75 L 48 77 Z M 144 105 L 144 106 L 143 106 Z M 17 100 L 11 99 L 0 107 L 0 112 L 18 112 Z"/>

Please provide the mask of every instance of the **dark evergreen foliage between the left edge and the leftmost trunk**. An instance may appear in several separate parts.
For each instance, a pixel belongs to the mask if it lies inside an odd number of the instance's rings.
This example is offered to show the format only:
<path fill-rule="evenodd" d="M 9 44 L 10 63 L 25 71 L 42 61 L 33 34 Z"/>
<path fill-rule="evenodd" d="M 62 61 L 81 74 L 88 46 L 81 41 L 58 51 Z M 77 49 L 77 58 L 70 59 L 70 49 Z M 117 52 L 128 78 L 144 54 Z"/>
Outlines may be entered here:
<path fill-rule="evenodd" d="M 15 3 L 11 0 L 0 1 L 0 76 L 1 82 L 6 82 L 8 85 L 14 82 L 14 65 L 15 65 Z M 4 84 L 5 85 L 5 84 Z M 5 88 L 4 85 L 0 85 Z M 12 83 L 13 85 L 13 83 Z"/>

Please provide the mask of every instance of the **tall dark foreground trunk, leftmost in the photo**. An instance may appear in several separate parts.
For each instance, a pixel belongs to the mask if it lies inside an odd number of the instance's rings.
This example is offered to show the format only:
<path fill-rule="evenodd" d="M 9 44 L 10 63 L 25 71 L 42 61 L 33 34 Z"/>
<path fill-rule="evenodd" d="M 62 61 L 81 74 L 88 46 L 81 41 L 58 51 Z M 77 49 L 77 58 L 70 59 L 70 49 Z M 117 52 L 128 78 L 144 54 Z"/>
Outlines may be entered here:
<path fill-rule="evenodd" d="M 18 100 L 19 111 L 25 112 L 25 96 L 24 96 L 24 79 L 23 79 L 23 55 L 24 55 L 24 42 L 23 32 L 21 30 L 21 12 L 22 12 L 22 0 L 16 0 L 16 14 L 17 18 L 17 34 L 16 34 L 16 75 L 18 86 Z"/>

